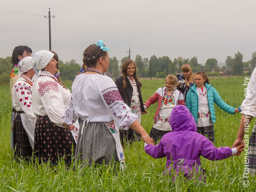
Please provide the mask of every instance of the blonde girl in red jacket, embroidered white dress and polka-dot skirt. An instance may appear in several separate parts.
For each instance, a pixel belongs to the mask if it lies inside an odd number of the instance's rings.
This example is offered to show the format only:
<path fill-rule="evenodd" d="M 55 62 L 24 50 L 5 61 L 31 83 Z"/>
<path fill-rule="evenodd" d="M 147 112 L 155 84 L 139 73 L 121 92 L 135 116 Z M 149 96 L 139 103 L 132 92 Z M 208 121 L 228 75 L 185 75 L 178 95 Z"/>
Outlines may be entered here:
<path fill-rule="evenodd" d="M 184 105 L 183 94 L 174 88 L 176 84 L 177 77 L 168 75 L 165 79 L 165 87 L 159 88 L 155 94 L 144 103 L 144 108 L 146 110 L 146 108 L 158 101 L 154 117 L 155 123 L 149 133 L 149 136 L 155 141 L 161 139 L 164 134 L 172 131 L 169 124 L 169 117 L 172 109 L 176 105 Z"/>

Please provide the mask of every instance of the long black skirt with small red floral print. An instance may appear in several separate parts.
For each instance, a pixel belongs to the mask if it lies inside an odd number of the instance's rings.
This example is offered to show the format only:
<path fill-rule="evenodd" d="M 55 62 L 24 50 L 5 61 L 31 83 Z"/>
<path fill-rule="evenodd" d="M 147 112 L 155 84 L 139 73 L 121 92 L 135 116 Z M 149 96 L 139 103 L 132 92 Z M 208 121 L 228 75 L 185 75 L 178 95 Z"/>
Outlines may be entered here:
<path fill-rule="evenodd" d="M 48 116 L 37 116 L 34 151 L 39 163 L 57 164 L 64 157 L 65 163 L 70 164 L 75 148 L 71 132 L 52 123 Z"/>

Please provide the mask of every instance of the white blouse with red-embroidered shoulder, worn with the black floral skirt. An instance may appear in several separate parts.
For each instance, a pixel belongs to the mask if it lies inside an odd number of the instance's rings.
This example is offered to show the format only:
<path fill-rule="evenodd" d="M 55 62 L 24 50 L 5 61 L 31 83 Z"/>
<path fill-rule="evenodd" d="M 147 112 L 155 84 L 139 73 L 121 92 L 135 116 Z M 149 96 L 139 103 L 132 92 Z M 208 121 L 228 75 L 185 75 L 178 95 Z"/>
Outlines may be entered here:
<path fill-rule="evenodd" d="M 33 83 L 33 112 L 38 116 L 48 115 L 53 123 L 61 126 L 61 115 L 69 104 L 71 93 L 69 89 L 58 84 L 51 73 L 42 71 L 41 75 L 43 76 L 36 77 Z"/>

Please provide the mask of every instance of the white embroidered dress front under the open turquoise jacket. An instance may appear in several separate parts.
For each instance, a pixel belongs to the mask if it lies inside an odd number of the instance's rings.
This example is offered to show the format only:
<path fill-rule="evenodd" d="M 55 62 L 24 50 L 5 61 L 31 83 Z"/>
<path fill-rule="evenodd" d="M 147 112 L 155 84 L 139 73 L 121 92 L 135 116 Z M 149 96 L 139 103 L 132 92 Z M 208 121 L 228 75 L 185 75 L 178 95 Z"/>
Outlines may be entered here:
<path fill-rule="evenodd" d="M 198 106 L 198 118 L 197 118 L 197 127 L 205 127 L 213 125 L 212 119 L 210 116 L 210 110 L 207 99 L 207 90 L 206 87 L 197 87 L 197 94 L 199 98 Z"/>

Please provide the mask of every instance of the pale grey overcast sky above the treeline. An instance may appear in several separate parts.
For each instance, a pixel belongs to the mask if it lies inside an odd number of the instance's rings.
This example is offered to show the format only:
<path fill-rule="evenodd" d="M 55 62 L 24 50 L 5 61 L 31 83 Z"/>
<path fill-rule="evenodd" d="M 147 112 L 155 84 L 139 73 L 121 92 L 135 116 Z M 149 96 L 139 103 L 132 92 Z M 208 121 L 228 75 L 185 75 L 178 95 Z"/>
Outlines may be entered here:
<path fill-rule="evenodd" d="M 197 56 L 225 62 L 237 51 L 244 61 L 256 51 L 255 0 L 0 0 L 0 57 L 17 45 L 33 53 L 49 50 L 48 8 L 51 8 L 52 50 L 59 59 L 82 65 L 84 49 L 98 39 L 120 61 Z M 28 14 L 28 15 L 27 15 Z"/>

